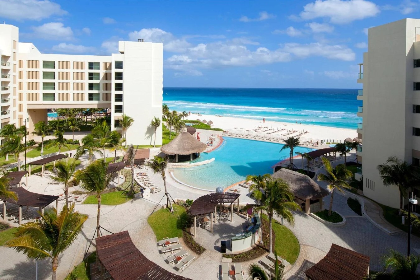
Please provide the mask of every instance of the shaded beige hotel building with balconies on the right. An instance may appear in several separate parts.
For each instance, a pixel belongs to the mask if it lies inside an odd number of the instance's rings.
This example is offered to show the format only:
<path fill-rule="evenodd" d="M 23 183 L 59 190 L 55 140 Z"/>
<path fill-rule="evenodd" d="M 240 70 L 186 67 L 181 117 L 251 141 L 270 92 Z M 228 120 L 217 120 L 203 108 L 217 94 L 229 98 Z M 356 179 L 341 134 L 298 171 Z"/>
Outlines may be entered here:
<path fill-rule="evenodd" d="M 368 51 L 360 64 L 357 156 L 365 196 L 399 207 L 396 186 L 384 186 L 377 165 L 395 155 L 420 163 L 420 19 L 406 18 L 369 29 Z M 415 194 L 420 195 L 416 190 Z M 407 200 L 405 200 L 407 203 Z"/>

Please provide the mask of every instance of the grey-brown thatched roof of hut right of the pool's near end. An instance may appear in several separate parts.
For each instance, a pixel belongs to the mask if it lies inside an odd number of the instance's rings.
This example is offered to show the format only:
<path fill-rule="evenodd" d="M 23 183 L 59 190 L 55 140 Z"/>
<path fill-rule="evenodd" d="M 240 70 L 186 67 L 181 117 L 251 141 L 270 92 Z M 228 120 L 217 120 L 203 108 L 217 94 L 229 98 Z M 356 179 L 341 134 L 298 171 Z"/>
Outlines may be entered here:
<path fill-rule="evenodd" d="M 273 174 L 273 178 L 281 178 L 289 183 L 290 189 L 294 196 L 299 199 L 311 199 L 317 200 L 322 199 L 324 196 L 329 194 L 321 188 L 315 181 L 309 176 L 301 174 L 296 171 L 292 171 L 286 168 L 281 168 Z"/>

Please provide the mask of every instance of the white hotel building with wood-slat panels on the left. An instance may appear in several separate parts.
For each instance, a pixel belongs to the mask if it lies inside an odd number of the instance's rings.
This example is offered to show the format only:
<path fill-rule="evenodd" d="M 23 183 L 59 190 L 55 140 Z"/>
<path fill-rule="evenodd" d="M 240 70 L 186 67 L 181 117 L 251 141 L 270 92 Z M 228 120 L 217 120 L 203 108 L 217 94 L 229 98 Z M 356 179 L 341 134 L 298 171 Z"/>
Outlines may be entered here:
<path fill-rule="evenodd" d="M 150 121 L 162 119 L 163 44 L 141 41 L 120 41 L 110 56 L 43 54 L 19 42 L 18 27 L 0 24 L 1 126 L 26 119 L 32 132 L 34 123 L 47 121 L 47 109 L 110 108 L 113 130 L 121 131 L 123 114 L 134 119 L 127 143 L 153 144 Z"/>

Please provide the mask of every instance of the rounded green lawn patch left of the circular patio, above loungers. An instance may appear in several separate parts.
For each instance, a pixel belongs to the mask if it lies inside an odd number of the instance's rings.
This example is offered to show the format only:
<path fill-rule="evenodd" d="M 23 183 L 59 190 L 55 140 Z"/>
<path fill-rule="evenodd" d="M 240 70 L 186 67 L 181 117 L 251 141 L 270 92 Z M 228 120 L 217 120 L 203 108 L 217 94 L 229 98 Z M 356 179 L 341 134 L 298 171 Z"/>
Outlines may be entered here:
<path fill-rule="evenodd" d="M 182 206 L 172 204 L 172 207 L 173 215 L 170 209 L 165 208 L 157 210 L 147 218 L 157 240 L 162 240 L 164 237 L 182 237 L 182 226 L 186 223 L 187 214 Z"/>

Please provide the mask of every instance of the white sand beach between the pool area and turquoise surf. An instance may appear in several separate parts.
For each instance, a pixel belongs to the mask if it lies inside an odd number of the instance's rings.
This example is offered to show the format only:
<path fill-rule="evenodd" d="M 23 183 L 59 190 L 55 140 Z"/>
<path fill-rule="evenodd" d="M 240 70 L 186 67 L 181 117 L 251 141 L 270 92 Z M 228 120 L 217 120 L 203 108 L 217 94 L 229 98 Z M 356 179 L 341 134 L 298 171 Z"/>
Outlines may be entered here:
<path fill-rule="evenodd" d="M 235 130 L 235 131 L 247 131 L 255 129 L 257 127 L 268 127 L 268 128 L 286 128 L 286 130 L 296 131 L 308 131 L 305 134 L 305 138 L 324 140 L 324 139 L 337 139 L 343 141 L 347 137 L 351 139 L 357 137 L 357 131 L 355 129 L 346 128 L 335 128 L 328 126 L 315 126 L 300 123 L 286 123 L 286 122 L 275 122 L 266 120 L 265 123 L 262 120 L 248 119 L 248 118 L 233 118 L 233 117 L 219 117 L 215 115 L 197 115 L 191 114 L 187 117 L 187 120 L 211 120 L 213 121 L 212 127 L 222 128 L 224 130 Z M 187 122 L 187 121 L 186 121 Z M 241 129 L 242 128 L 242 129 Z M 272 133 L 273 134 L 273 133 Z M 280 133 L 277 133 L 280 134 Z"/>

